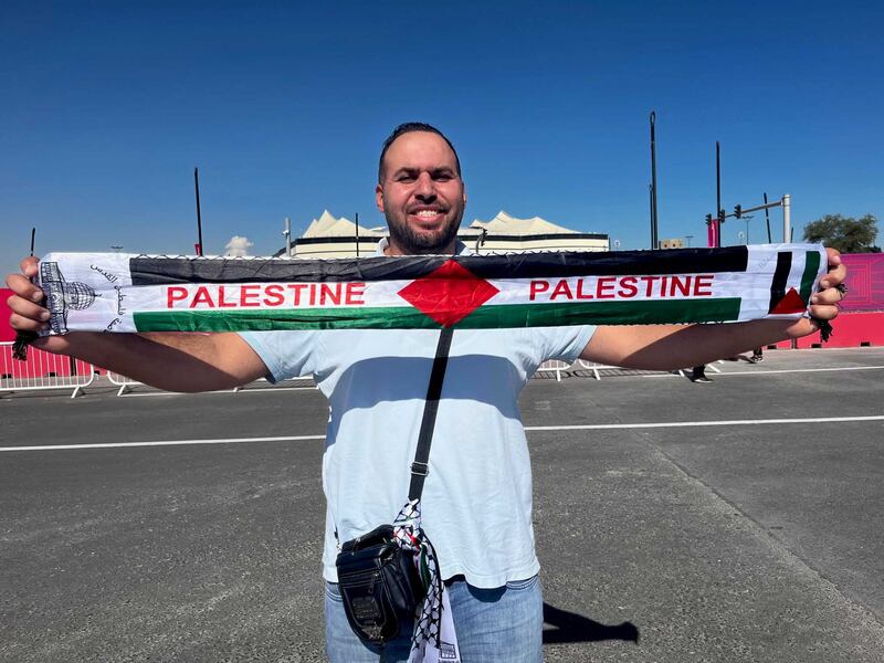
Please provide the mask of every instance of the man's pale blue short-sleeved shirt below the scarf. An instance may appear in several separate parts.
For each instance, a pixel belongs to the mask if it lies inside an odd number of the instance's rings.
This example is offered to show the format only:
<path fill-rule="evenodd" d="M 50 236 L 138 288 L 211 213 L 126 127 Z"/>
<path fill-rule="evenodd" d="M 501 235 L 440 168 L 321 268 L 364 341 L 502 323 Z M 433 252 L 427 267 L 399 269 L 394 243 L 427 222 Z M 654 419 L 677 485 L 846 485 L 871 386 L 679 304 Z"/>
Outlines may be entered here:
<path fill-rule="evenodd" d="M 594 327 L 456 329 L 421 497 L 442 578 L 502 587 L 536 575 L 532 473 L 518 396 L 547 359 L 573 361 Z M 328 398 L 323 576 L 337 539 L 391 523 L 408 499 L 439 330 L 248 332 L 273 380 L 313 373 Z"/>

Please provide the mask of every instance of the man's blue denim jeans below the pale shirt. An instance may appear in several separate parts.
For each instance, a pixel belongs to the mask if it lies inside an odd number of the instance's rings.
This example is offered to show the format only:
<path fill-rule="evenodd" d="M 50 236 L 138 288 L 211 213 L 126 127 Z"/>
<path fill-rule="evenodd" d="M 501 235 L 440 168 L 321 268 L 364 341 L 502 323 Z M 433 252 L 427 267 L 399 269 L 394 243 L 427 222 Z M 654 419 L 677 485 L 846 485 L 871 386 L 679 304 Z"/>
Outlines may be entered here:
<path fill-rule="evenodd" d="M 544 660 L 544 598 L 538 576 L 496 589 L 478 589 L 463 578 L 446 585 L 463 663 Z M 332 663 L 406 662 L 412 628 L 383 649 L 366 646 L 347 623 L 338 586 L 325 583 L 325 646 Z"/>

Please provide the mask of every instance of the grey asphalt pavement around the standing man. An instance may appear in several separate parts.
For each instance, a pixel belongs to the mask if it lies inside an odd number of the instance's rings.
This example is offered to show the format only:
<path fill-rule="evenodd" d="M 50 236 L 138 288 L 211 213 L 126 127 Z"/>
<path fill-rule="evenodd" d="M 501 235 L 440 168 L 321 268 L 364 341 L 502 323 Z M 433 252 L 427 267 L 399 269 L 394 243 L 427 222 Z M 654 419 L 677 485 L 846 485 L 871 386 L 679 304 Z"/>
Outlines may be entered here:
<path fill-rule="evenodd" d="M 547 661 L 884 657 L 884 349 L 716 366 L 524 391 Z M 0 394 L 0 661 L 322 661 L 322 394 Z"/>

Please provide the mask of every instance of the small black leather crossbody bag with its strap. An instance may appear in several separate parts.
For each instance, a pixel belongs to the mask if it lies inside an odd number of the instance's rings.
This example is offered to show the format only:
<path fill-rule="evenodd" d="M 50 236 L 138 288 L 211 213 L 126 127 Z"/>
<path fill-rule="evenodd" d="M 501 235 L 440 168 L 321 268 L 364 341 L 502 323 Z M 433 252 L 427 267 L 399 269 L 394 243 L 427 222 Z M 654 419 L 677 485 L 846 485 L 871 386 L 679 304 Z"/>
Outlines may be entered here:
<path fill-rule="evenodd" d="M 429 474 L 427 462 L 453 334 L 453 329 L 445 327 L 439 336 L 418 449 L 411 464 L 409 501 L 420 498 Z M 381 525 L 341 544 L 336 566 L 347 621 L 366 644 L 380 646 L 398 638 L 402 628 L 413 621 L 418 606 L 427 596 L 428 588 L 414 567 L 411 552 L 399 547 L 392 525 Z"/>

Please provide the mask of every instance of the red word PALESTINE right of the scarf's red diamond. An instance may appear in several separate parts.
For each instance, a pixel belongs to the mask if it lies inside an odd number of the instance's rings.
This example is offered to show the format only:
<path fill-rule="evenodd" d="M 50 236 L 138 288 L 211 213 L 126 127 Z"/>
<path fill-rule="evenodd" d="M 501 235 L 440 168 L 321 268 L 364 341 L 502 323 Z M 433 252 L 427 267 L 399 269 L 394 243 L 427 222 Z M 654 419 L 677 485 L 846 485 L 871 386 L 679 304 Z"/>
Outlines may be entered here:
<path fill-rule="evenodd" d="M 714 274 L 683 276 L 599 276 L 598 278 L 536 280 L 529 299 L 631 299 L 667 297 L 712 297 Z"/>

